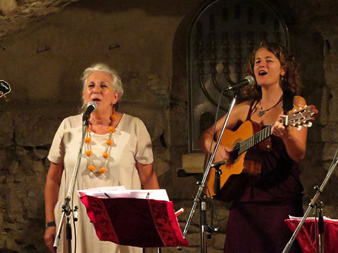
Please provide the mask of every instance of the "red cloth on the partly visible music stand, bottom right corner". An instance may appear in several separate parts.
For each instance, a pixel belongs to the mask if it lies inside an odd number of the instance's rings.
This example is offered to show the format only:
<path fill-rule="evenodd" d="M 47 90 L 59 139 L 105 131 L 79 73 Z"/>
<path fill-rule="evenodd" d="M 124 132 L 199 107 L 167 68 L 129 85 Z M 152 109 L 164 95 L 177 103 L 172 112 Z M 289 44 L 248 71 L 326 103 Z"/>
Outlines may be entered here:
<path fill-rule="evenodd" d="M 299 219 L 286 219 L 284 221 L 292 233 L 300 222 Z M 315 236 L 315 220 L 306 219 L 296 236 L 303 253 L 315 253 Z M 338 221 L 324 219 L 324 252 L 338 253 Z"/>

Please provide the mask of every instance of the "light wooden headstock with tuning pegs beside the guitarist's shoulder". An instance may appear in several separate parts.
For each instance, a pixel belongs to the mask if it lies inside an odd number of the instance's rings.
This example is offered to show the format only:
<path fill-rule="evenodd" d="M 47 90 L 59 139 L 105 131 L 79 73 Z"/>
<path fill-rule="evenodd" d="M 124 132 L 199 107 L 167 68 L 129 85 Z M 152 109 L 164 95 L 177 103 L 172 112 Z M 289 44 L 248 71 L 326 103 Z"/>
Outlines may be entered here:
<path fill-rule="evenodd" d="M 316 115 L 318 115 L 318 110 L 315 105 L 305 105 L 304 108 L 294 110 L 291 115 L 287 116 L 287 124 L 297 129 L 301 129 L 302 126 L 311 127 Z"/>

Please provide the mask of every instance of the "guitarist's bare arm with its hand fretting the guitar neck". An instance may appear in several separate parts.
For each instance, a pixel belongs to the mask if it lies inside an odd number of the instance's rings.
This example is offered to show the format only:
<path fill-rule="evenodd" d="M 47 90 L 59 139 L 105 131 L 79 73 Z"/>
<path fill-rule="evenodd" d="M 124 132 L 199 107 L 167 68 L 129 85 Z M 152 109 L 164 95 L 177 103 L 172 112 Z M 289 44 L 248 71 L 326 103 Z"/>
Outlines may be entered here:
<path fill-rule="evenodd" d="M 304 108 L 306 101 L 301 96 L 295 96 L 294 105 L 296 105 L 296 107 Z M 281 117 L 285 116 L 281 115 Z M 282 138 L 285 148 L 287 149 L 287 154 L 292 158 L 292 160 L 295 162 L 300 162 L 305 157 L 306 136 L 308 133 L 306 127 L 298 130 L 296 127 L 285 127 L 282 123 L 275 122 L 272 133 L 275 136 Z"/>

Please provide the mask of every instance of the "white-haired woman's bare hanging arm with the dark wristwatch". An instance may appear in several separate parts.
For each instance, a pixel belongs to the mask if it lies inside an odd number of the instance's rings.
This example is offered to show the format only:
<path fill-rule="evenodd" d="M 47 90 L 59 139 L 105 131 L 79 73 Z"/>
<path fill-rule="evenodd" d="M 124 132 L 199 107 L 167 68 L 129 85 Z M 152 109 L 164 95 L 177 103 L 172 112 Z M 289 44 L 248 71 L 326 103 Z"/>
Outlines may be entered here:
<path fill-rule="evenodd" d="M 58 190 L 60 188 L 61 177 L 63 172 L 63 163 L 56 164 L 51 162 L 44 188 L 44 202 L 46 210 L 46 223 L 55 221 L 54 207 L 58 201 Z M 56 252 L 53 248 L 56 236 L 56 226 L 46 228 L 44 232 L 44 241 L 51 252 Z"/>

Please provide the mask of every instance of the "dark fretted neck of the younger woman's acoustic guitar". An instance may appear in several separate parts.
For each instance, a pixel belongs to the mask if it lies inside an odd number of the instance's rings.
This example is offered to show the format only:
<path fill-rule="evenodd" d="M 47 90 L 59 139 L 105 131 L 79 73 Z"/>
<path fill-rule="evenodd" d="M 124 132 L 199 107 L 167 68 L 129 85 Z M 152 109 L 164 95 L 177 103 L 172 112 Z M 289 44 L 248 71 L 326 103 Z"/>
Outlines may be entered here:
<path fill-rule="evenodd" d="M 287 122 L 287 118 L 288 117 L 280 119 L 278 120 L 278 122 L 281 122 L 282 124 L 285 125 L 285 122 Z M 238 155 L 241 155 L 242 153 L 252 148 L 254 145 L 257 145 L 258 143 L 261 143 L 265 139 L 269 138 L 272 135 L 271 129 L 273 128 L 273 125 L 274 124 L 271 124 L 270 126 L 265 127 L 261 131 L 258 131 L 256 134 L 253 134 L 253 136 L 247 138 L 241 143 L 237 143 L 237 145 L 235 145 L 234 147 L 234 150 L 238 150 Z"/>

